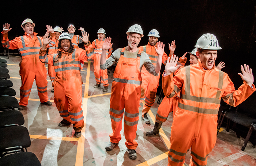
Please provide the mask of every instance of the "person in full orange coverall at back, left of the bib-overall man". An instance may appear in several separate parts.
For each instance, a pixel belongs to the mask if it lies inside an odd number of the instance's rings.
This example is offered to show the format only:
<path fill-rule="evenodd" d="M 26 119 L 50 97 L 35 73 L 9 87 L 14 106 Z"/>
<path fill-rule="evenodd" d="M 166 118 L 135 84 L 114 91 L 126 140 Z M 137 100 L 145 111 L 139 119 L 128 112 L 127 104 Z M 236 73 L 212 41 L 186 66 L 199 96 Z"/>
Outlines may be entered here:
<path fill-rule="evenodd" d="M 94 68 L 94 76 L 96 80 L 96 84 L 94 88 L 98 88 L 103 83 L 104 89 L 103 92 L 108 91 L 108 69 L 101 70 L 99 67 L 99 61 L 101 60 L 101 52 L 102 52 L 102 45 L 106 38 L 106 31 L 103 28 L 98 30 L 98 39 L 95 39 L 93 43 L 89 41 L 89 34 L 85 36 L 86 39 L 86 47 L 85 50 L 87 52 L 88 59 L 94 58 L 93 68 Z M 108 59 L 113 51 L 111 47 L 106 53 L 106 59 Z M 101 79 L 102 77 L 102 79 Z"/>

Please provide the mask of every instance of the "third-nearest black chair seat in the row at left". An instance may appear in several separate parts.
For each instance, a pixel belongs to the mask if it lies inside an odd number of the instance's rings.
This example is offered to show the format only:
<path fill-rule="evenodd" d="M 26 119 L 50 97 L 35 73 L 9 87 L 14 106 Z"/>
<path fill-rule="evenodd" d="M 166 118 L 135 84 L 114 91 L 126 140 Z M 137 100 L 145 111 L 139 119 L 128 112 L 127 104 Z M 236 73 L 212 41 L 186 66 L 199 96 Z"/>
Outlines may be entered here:
<path fill-rule="evenodd" d="M 25 123 L 24 117 L 20 111 L 1 111 L 0 112 L 0 127 L 6 124 L 18 124 L 19 126 Z"/>

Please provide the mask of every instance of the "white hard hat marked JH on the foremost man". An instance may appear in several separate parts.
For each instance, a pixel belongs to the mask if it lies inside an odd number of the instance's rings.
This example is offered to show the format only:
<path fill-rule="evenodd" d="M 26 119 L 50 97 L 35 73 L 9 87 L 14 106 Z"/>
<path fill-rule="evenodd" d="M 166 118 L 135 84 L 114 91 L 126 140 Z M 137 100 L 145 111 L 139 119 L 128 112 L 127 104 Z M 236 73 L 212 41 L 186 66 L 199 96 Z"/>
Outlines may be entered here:
<path fill-rule="evenodd" d="M 203 34 L 195 45 L 196 48 L 206 50 L 221 50 L 219 42 L 214 34 Z"/>

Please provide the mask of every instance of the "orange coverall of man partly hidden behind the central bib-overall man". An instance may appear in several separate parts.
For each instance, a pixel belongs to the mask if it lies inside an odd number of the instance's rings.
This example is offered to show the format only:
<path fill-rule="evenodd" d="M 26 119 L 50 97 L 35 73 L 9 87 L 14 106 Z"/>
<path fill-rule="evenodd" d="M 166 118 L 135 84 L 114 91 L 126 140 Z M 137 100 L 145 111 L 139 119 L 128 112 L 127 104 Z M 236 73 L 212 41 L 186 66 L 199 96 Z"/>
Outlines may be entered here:
<path fill-rule="evenodd" d="M 149 42 L 147 46 L 139 47 L 141 51 L 147 53 L 149 59 L 151 60 L 154 66 L 156 65 L 157 59 L 158 59 L 158 54 L 155 51 L 155 47 L 157 47 L 157 44 L 154 46 L 151 46 Z M 168 58 L 167 54 L 163 52 L 163 57 L 162 57 L 163 64 L 167 58 Z M 141 71 L 142 89 L 141 89 L 140 103 L 143 100 L 145 100 L 145 104 L 148 107 L 151 107 L 154 104 L 155 94 L 157 93 L 160 76 L 161 76 L 160 74 L 157 77 L 153 76 L 152 74 L 148 73 L 145 67 L 142 67 L 142 71 Z"/>

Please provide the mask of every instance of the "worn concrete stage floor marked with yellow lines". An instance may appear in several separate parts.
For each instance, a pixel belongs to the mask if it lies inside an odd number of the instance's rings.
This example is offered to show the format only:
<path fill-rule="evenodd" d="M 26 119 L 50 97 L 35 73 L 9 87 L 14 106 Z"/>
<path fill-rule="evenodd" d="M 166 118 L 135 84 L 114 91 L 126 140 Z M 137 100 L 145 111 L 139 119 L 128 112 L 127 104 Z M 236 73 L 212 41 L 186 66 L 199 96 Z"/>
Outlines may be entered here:
<path fill-rule="evenodd" d="M 19 88 L 21 80 L 19 76 L 19 62 L 21 57 L 10 56 L 7 60 L 7 69 L 10 71 L 11 81 L 19 101 Z M 47 65 L 46 65 L 47 66 Z M 41 105 L 37 94 L 35 81 L 30 93 L 29 104 L 21 112 L 25 118 L 24 126 L 29 130 L 31 146 L 28 151 L 33 152 L 42 166 L 167 166 L 168 149 L 170 146 L 170 131 L 173 113 L 170 113 L 167 121 L 163 123 L 161 134 L 147 137 L 145 132 L 151 131 L 155 123 L 157 113 L 156 98 L 151 108 L 151 125 L 147 125 L 139 119 L 136 141 L 139 143 L 137 159 L 128 157 L 125 146 L 124 132 L 121 131 L 122 139 L 118 147 L 112 151 L 106 151 L 105 146 L 109 142 L 109 134 L 112 133 L 109 117 L 109 100 L 113 73 L 108 78 L 108 92 L 103 92 L 103 86 L 93 88 L 96 84 L 93 64 L 85 63 L 81 71 L 82 85 L 82 108 L 84 114 L 84 128 L 82 137 L 76 138 L 72 125 L 59 127 L 62 120 L 53 102 L 52 83 L 47 74 L 48 97 L 52 106 Z M 131 103 L 132 104 L 132 103 Z M 141 104 L 142 106 L 142 104 Z M 140 107 L 141 116 L 142 107 Z M 124 118 L 123 118 L 124 120 Z M 186 136 L 186 133 L 184 133 Z M 208 166 L 256 166 L 256 147 L 249 142 L 245 151 L 241 151 L 244 138 L 237 138 L 236 133 L 222 129 L 218 134 L 217 142 L 208 156 Z M 189 164 L 190 151 L 186 155 L 185 166 Z"/>

